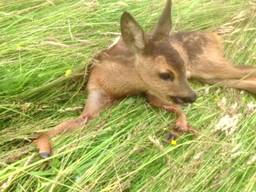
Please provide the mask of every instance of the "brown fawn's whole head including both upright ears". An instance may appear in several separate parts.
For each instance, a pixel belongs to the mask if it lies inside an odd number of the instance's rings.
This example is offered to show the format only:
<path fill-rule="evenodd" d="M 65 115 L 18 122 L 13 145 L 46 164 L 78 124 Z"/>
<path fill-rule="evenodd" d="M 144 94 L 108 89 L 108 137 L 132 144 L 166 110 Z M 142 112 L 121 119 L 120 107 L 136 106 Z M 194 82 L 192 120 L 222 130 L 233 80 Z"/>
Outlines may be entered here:
<path fill-rule="evenodd" d="M 167 0 L 153 33 L 145 34 L 136 20 L 125 12 L 121 17 L 122 39 L 136 55 L 136 71 L 150 94 L 164 102 L 193 102 L 196 94 L 188 84 L 185 63 L 169 41 L 170 16 L 171 0 Z"/>

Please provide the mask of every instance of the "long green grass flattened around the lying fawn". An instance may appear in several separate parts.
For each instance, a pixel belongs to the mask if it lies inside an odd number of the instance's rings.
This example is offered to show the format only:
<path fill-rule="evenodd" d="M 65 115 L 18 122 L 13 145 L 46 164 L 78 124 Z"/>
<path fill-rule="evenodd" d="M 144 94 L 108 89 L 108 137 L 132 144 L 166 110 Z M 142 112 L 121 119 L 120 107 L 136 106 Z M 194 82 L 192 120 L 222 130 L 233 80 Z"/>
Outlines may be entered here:
<path fill-rule="evenodd" d="M 51 82 L 88 66 L 119 33 L 129 10 L 150 30 L 164 1 L 0 1 L 0 191 L 256 191 L 256 103 L 253 95 L 193 83 L 198 100 L 184 111 L 200 134 L 164 142 L 174 115 L 143 98 L 123 100 L 84 129 L 54 138 L 42 160 L 29 137 L 78 116 L 83 81 Z M 227 57 L 256 65 L 256 4 L 176 0 L 173 31 L 225 32 Z M 226 98 L 226 102 L 225 99 Z M 234 105 L 234 104 L 237 105 Z M 240 114 L 233 133 L 216 123 Z"/>

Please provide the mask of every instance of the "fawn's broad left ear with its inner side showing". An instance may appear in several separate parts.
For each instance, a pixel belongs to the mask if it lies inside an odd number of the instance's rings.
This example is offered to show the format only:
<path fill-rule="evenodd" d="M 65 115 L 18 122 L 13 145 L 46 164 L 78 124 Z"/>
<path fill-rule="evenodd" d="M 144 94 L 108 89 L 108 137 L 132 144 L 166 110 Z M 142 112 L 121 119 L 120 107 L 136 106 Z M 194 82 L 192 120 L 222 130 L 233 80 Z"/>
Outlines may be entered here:
<path fill-rule="evenodd" d="M 124 12 L 121 17 L 121 34 L 125 44 L 133 52 L 138 53 L 145 48 L 144 31 L 128 12 Z"/>

